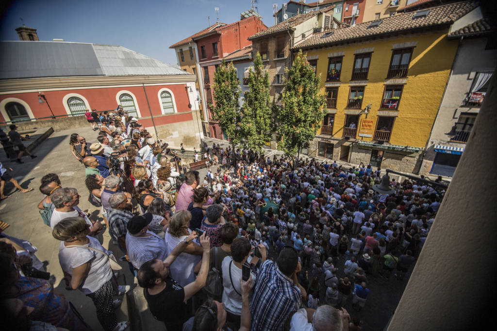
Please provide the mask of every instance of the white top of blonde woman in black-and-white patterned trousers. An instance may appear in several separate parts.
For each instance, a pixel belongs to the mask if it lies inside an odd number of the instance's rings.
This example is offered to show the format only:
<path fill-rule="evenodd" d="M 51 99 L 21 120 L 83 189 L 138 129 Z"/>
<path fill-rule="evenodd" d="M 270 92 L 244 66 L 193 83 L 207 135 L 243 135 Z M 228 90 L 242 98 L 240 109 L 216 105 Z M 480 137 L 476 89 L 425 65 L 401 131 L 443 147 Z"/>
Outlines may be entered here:
<path fill-rule="evenodd" d="M 99 251 L 109 254 L 105 248 L 100 245 L 98 239 L 89 238 L 89 244 L 83 245 L 92 247 Z M 67 245 L 70 246 L 70 245 Z M 70 247 L 67 248 L 64 242 L 61 242 L 59 247 L 59 261 L 62 269 L 73 274 L 73 269 L 85 263 L 90 264 L 88 275 L 83 279 L 80 285 L 80 290 L 84 294 L 90 294 L 98 290 L 107 281 L 112 278 L 112 269 L 110 268 L 109 259 L 102 253 L 84 248 L 84 247 Z"/>

